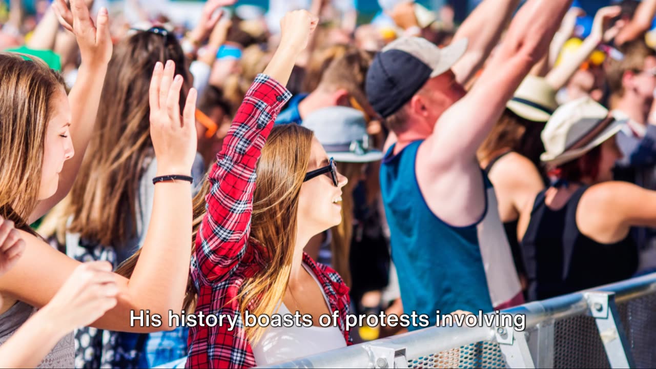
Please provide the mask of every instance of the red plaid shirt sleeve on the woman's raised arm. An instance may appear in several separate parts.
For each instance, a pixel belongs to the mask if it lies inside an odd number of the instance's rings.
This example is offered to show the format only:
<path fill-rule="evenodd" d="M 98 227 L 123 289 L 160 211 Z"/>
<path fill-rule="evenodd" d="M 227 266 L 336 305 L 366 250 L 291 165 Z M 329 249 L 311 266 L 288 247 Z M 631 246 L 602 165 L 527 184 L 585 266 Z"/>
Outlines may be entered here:
<path fill-rule="evenodd" d="M 206 283 L 228 278 L 246 253 L 251 230 L 255 165 L 274 120 L 291 93 L 259 74 L 246 93 L 223 148 L 216 156 L 205 198 L 207 213 L 196 238 L 195 257 Z"/>

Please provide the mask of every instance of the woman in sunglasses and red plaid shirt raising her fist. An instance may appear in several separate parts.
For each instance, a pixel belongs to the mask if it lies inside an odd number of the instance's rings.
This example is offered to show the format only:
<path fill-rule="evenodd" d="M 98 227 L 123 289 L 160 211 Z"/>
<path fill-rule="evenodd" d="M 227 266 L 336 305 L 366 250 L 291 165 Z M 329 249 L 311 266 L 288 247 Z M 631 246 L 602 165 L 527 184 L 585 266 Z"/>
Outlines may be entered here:
<path fill-rule="evenodd" d="M 251 368 L 350 343 L 348 288 L 303 252 L 312 236 L 340 223 L 346 178 L 312 131 L 274 127 L 291 95 L 285 85 L 295 60 L 317 21 L 306 11 L 281 20 L 281 43 L 237 110 L 194 200 L 186 313 L 228 315 L 237 323 L 190 328 L 189 368 Z M 246 312 L 298 312 L 312 320 L 307 327 L 251 326 Z M 333 312 L 337 326 L 321 327 L 319 316 Z"/>

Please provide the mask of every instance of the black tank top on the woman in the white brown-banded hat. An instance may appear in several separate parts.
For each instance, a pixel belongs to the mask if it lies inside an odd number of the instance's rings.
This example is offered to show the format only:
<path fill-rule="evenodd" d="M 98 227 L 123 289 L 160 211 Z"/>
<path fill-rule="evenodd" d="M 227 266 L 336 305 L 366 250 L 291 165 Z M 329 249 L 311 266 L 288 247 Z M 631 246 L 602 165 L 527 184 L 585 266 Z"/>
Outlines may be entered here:
<path fill-rule="evenodd" d="M 630 234 L 600 244 L 579 231 L 576 210 L 587 188 L 579 188 L 559 210 L 544 204 L 546 190 L 535 198 L 522 240 L 529 301 L 618 282 L 636 272 L 638 250 Z"/>

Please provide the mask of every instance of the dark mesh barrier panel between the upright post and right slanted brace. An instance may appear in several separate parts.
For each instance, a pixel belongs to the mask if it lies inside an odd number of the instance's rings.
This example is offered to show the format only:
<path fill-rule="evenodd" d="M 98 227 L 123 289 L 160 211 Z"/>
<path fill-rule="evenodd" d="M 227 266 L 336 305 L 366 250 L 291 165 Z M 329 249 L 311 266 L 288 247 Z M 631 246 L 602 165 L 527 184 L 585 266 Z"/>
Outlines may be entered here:
<path fill-rule="evenodd" d="M 610 368 L 592 316 L 556 320 L 554 368 Z"/>

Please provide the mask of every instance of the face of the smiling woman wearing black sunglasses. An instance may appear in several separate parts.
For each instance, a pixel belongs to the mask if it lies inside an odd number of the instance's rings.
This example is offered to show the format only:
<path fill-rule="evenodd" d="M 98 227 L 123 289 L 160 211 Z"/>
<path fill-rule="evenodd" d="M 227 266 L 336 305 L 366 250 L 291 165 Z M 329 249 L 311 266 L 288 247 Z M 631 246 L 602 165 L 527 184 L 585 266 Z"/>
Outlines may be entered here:
<path fill-rule="evenodd" d="M 307 172 L 329 165 L 329 160 L 321 143 L 312 139 Z M 319 234 L 342 222 L 342 188 L 348 180 L 340 173 L 337 173 L 337 179 L 338 186 L 335 186 L 328 172 L 303 183 L 298 198 L 299 230 Z"/>

